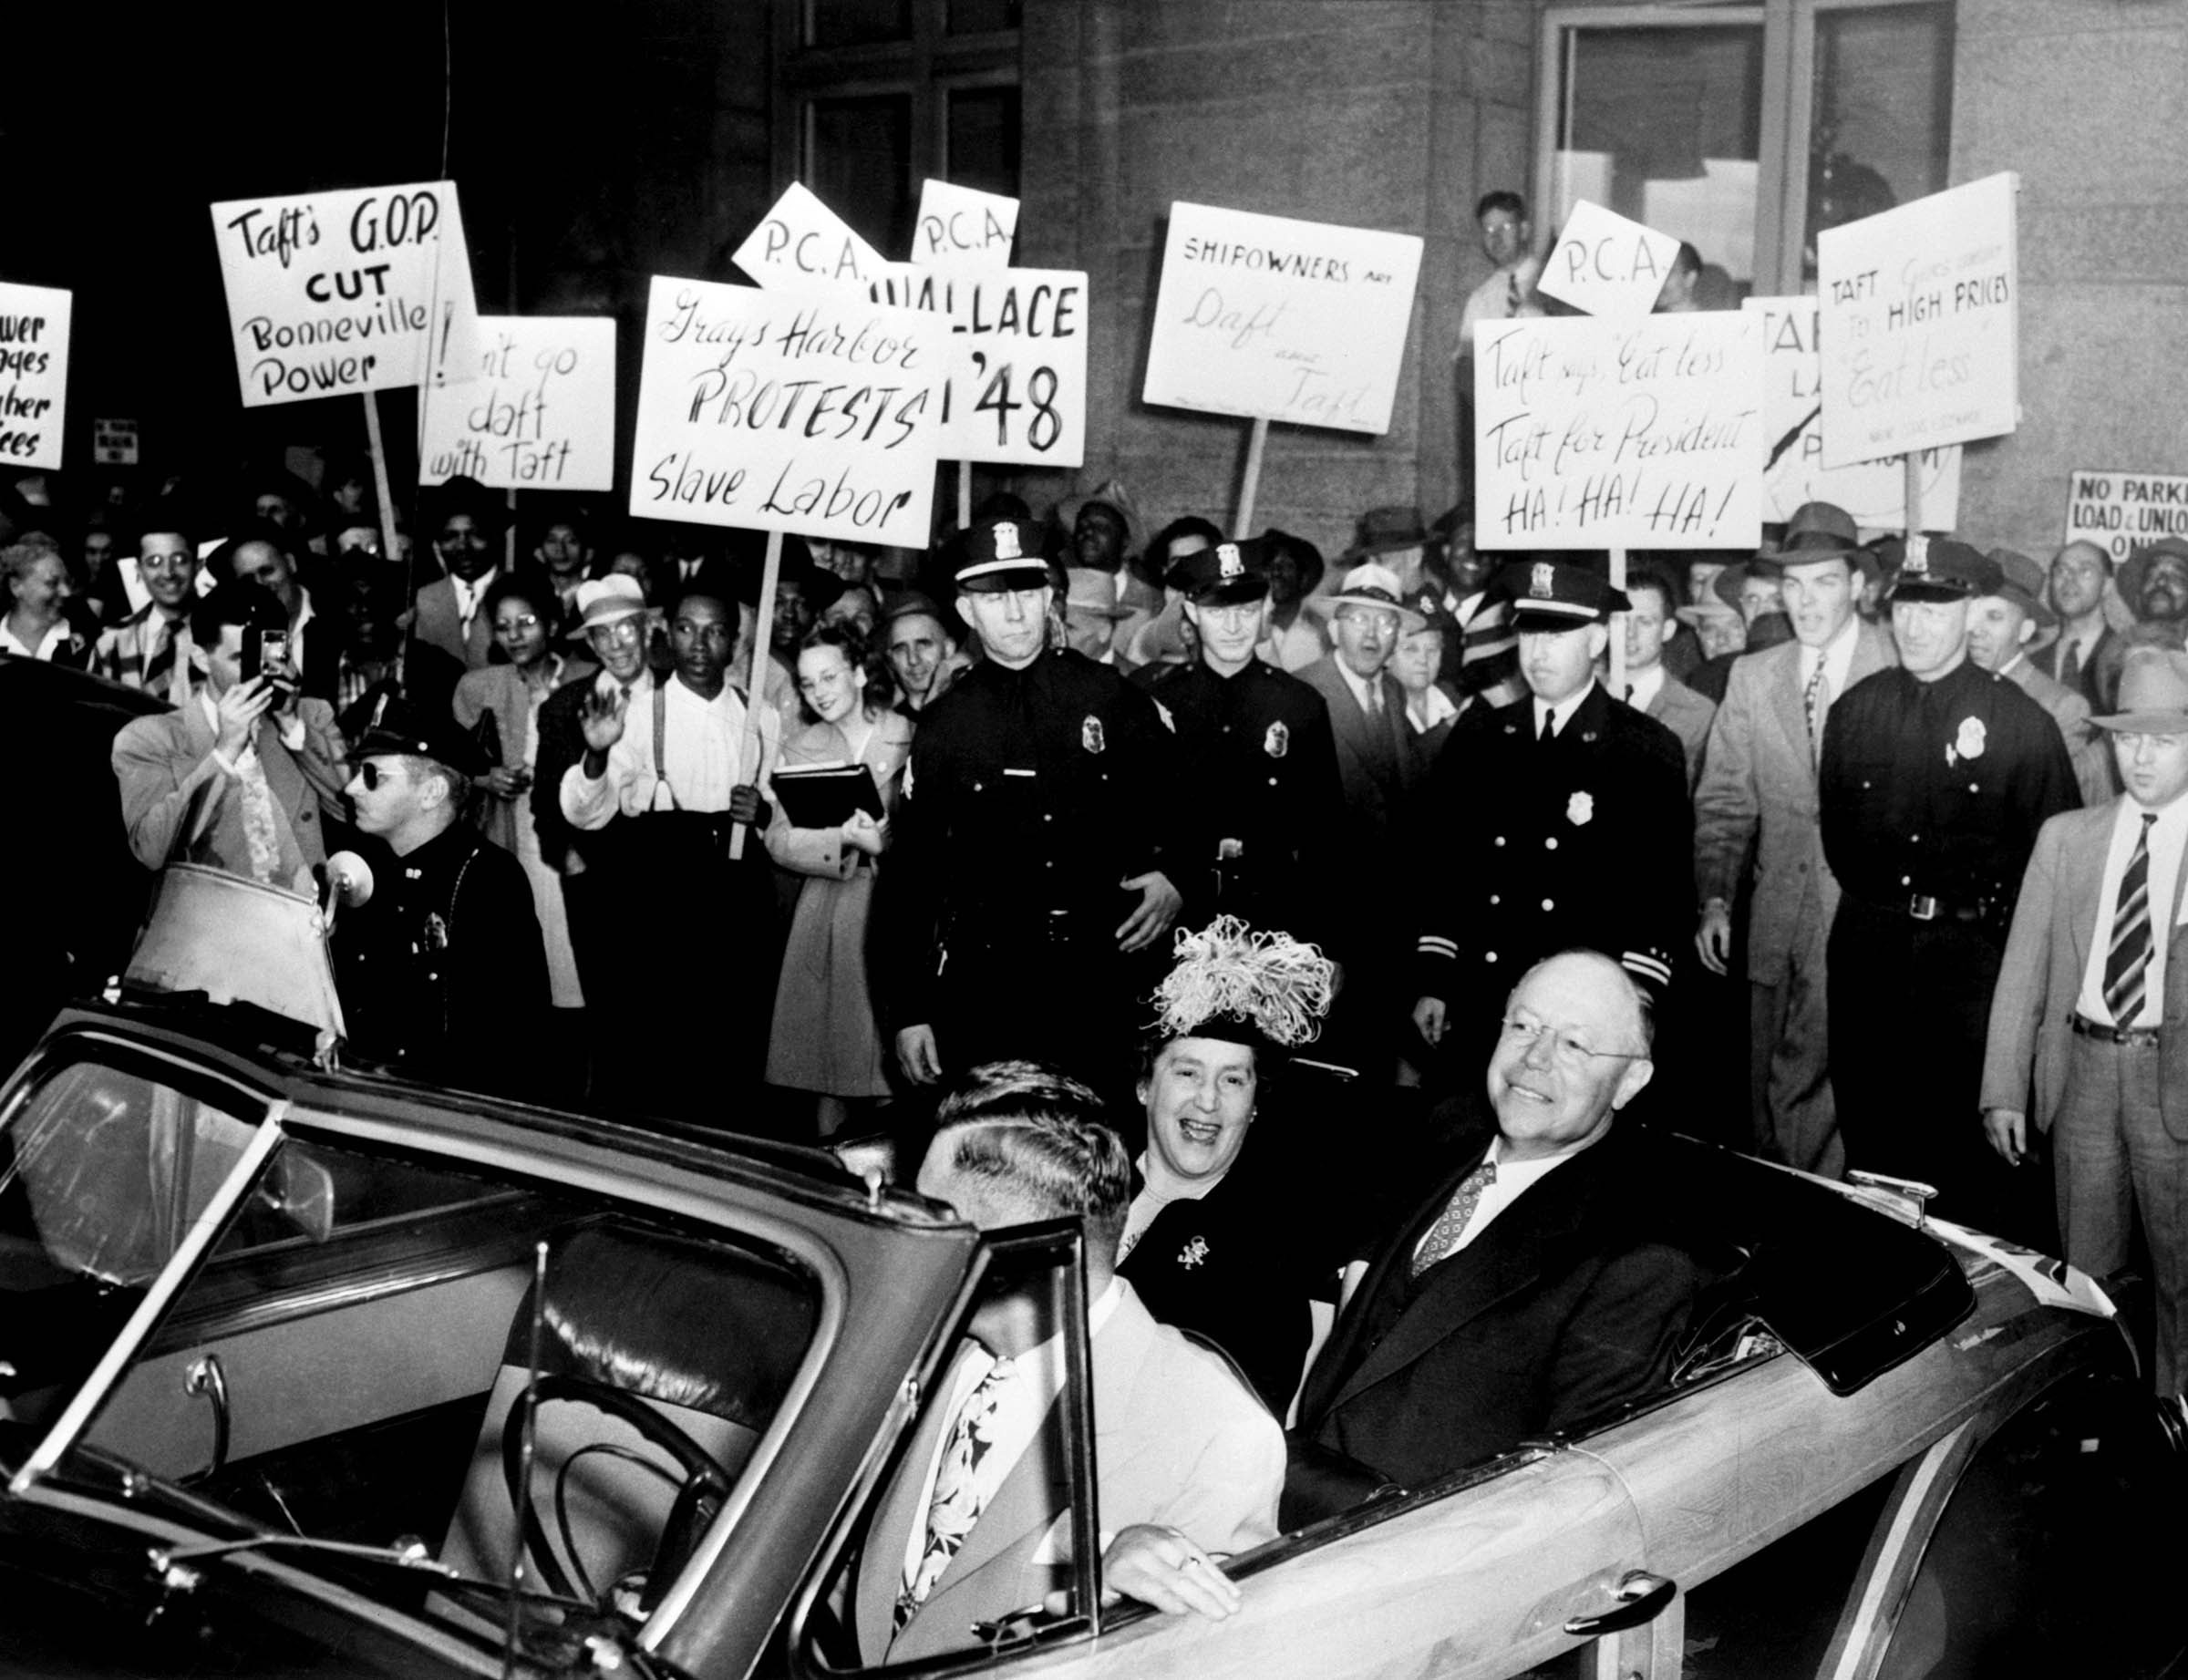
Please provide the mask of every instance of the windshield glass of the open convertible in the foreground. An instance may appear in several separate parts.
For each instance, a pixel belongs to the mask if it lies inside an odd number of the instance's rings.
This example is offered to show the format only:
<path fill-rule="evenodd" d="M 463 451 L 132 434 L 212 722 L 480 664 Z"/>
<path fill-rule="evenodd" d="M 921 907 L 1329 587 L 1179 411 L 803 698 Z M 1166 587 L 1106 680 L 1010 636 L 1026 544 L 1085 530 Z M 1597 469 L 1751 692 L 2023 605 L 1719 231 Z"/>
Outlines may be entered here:
<path fill-rule="evenodd" d="M 50 1479 L 177 1522 L 162 1555 L 193 1582 L 234 1562 L 392 1586 L 499 1649 L 521 1547 L 534 1621 L 635 1628 L 788 1426 L 821 1284 L 775 1247 L 289 1138 L 247 1194 L 230 1188 L 193 1269 L 179 1234 L 258 1129 L 109 1068 L 66 1070 L 39 1098 L 35 1124 L 0 1133 L 9 1286 L 42 1284 L 48 1326 L 63 1302 L 112 1302 L 112 1341 L 173 1286 L 162 1262 L 182 1253 L 188 1275 L 112 1380 L 96 1372 L 81 1433 L 63 1407 L 101 1348 L 39 1372 L 37 1391 L 9 1378 L 11 1468 L 59 1418 Z M 420 1564 L 416 1582 L 387 1553 Z M 55 1621 L 55 1652 L 68 1625 L 81 1617 Z"/>

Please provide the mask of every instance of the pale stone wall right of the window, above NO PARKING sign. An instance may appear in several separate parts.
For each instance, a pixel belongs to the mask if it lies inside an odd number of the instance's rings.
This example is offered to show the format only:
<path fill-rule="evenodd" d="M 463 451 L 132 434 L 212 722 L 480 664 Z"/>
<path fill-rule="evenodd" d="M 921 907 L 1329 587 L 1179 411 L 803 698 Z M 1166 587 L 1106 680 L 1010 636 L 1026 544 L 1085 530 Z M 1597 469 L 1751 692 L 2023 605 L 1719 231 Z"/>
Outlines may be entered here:
<path fill-rule="evenodd" d="M 2076 466 L 2188 472 L 2188 0 L 1960 0 L 1952 179 L 2020 171 L 2022 424 L 1960 529 L 2048 558 Z"/>

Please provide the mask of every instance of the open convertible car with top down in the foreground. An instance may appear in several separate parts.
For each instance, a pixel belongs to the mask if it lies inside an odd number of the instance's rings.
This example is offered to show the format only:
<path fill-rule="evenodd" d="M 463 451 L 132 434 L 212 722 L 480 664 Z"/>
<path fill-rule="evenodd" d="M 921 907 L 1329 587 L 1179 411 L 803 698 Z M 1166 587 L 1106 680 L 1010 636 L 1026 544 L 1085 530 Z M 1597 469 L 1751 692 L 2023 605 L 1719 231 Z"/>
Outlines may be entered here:
<path fill-rule="evenodd" d="M 0 1096 L 0 1671 L 858 1669 L 842 1586 L 982 1288 L 1048 1286 L 1085 1372 L 1072 1225 L 324 1048 L 90 1002 Z M 1061 1610 L 926 1671 L 2173 1671 L 2142 1536 L 2179 1461 L 2120 1323 L 1678 1151 L 1637 1194 L 1718 1282 L 1665 1393 L 1433 1485 L 1302 1481 L 1223 1623 L 1105 1606 L 1083 1547 Z"/>

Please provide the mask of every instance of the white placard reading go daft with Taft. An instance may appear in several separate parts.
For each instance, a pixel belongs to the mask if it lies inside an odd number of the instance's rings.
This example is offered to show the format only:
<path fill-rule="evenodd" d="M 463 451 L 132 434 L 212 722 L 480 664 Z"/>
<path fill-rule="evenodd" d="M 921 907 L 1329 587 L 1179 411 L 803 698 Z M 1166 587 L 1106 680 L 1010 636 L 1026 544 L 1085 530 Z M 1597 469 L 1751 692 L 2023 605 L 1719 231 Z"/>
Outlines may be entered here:
<path fill-rule="evenodd" d="M 481 315 L 479 376 L 424 394 L 418 481 L 615 488 L 615 322 Z"/>

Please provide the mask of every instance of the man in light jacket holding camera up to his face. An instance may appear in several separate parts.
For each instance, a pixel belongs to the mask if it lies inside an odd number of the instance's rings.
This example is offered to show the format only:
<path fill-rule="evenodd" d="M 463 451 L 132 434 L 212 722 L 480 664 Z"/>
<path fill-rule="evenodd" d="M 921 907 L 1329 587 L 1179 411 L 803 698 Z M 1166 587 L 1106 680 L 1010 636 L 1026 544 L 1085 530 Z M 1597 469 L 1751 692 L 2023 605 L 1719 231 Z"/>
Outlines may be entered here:
<path fill-rule="evenodd" d="M 221 584 L 190 612 L 195 693 L 114 737 L 129 851 L 144 868 L 210 864 L 289 892 L 313 892 L 322 827 L 344 820 L 341 731 L 293 674 L 243 676 L 245 637 L 284 628 L 256 584 Z"/>

